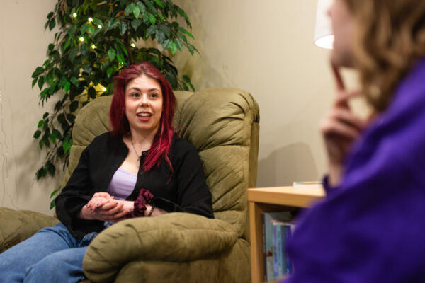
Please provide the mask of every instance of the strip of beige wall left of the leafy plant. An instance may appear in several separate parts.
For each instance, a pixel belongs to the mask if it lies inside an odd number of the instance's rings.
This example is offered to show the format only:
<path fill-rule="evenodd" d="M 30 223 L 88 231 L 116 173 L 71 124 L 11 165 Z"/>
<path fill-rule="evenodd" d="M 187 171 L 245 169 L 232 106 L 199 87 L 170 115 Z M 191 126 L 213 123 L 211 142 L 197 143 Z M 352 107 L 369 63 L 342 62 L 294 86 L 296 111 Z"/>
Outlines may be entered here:
<path fill-rule="evenodd" d="M 33 133 L 45 109 L 38 88 L 31 89 L 31 74 L 54 37 L 44 24 L 55 2 L 0 1 L 0 205 L 47 214 L 58 182 L 35 180 L 43 156 Z"/>

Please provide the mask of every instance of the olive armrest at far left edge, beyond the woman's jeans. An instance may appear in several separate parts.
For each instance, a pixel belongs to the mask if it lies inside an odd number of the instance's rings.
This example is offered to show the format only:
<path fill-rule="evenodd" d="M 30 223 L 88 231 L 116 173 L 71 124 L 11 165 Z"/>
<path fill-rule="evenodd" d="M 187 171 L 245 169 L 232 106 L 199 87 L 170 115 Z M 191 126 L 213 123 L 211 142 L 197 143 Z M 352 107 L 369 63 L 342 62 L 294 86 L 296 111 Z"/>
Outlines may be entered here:
<path fill-rule="evenodd" d="M 33 236 L 38 230 L 59 222 L 55 217 L 38 212 L 6 207 L 0 207 L 0 219 L 0 253 Z"/>

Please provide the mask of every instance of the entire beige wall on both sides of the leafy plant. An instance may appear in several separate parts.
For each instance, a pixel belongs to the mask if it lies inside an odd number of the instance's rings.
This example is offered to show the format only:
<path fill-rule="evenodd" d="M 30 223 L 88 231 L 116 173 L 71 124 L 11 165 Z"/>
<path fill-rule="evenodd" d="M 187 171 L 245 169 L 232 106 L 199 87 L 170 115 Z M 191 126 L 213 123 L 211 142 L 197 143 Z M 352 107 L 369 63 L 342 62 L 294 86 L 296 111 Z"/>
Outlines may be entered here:
<path fill-rule="evenodd" d="M 51 214 L 59 181 L 34 177 L 43 156 L 32 138 L 45 108 L 30 76 L 53 33 L 56 0 L 0 2 L 0 205 Z M 314 0 L 177 0 L 201 55 L 176 57 L 197 89 L 236 87 L 261 108 L 258 186 L 318 180 L 324 151 L 317 125 L 333 96 L 329 52 L 315 47 Z"/>

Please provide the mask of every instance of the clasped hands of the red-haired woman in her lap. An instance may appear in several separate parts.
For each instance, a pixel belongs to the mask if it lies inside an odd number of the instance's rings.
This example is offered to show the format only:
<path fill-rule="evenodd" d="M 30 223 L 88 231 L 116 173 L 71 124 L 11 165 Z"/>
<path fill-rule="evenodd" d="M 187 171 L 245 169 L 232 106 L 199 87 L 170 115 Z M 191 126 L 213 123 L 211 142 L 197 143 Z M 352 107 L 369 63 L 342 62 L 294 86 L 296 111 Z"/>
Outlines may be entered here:
<path fill-rule="evenodd" d="M 118 222 L 127 219 L 134 209 L 134 202 L 115 200 L 108 192 L 96 192 L 91 200 L 81 208 L 79 218 Z"/>

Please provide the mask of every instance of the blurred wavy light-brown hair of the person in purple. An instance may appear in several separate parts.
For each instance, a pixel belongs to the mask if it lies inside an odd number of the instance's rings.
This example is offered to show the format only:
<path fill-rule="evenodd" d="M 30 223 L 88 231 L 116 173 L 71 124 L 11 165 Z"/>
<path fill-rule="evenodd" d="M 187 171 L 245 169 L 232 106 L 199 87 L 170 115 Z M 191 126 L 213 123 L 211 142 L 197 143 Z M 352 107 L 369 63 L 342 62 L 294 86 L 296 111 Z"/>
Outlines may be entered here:
<path fill-rule="evenodd" d="M 397 83 L 425 55 L 425 1 L 343 1 L 358 23 L 353 56 L 363 93 L 382 112 Z"/>

